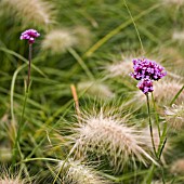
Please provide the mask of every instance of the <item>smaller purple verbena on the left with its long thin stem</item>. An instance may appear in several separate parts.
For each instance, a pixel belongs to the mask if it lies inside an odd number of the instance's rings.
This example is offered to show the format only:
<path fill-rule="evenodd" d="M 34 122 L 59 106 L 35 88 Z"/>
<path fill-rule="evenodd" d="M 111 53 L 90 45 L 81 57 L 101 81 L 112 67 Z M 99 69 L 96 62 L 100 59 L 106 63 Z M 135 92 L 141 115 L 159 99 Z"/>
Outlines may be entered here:
<path fill-rule="evenodd" d="M 15 139 L 15 143 L 14 143 L 14 147 L 13 147 L 13 165 L 15 163 L 15 158 L 17 156 L 21 133 L 22 133 L 23 127 L 24 127 L 24 113 L 25 113 L 26 103 L 27 103 L 28 93 L 29 93 L 29 88 L 30 88 L 30 68 L 31 68 L 32 44 L 35 43 L 35 39 L 38 38 L 39 36 L 40 36 L 40 34 L 35 29 L 25 30 L 21 35 L 21 40 L 28 40 L 28 44 L 29 44 L 28 75 L 27 75 L 26 94 L 25 94 L 25 100 L 24 100 L 24 104 L 23 104 L 22 116 L 21 116 L 21 120 L 19 120 L 19 123 L 18 123 L 16 139 Z"/>

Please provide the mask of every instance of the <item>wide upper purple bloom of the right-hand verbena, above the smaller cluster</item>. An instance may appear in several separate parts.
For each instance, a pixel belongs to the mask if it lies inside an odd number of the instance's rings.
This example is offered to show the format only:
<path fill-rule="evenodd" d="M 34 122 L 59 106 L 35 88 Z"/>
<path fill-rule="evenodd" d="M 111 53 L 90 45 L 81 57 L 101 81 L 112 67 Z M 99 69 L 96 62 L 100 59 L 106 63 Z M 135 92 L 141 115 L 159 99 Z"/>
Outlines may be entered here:
<path fill-rule="evenodd" d="M 134 58 L 132 62 L 134 73 L 130 75 L 136 80 L 159 80 L 167 75 L 162 66 L 148 58 Z"/>

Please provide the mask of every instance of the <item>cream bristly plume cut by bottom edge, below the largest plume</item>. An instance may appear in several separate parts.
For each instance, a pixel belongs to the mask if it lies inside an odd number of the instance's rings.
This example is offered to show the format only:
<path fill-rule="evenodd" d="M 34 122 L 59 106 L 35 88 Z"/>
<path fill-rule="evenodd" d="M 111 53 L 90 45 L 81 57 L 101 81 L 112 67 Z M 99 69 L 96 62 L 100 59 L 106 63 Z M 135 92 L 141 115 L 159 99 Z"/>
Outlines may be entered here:
<path fill-rule="evenodd" d="M 80 161 L 68 159 L 61 161 L 58 167 L 62 168 L 61 175 L 65 184 L 107 184 L 97 171 Z"/>

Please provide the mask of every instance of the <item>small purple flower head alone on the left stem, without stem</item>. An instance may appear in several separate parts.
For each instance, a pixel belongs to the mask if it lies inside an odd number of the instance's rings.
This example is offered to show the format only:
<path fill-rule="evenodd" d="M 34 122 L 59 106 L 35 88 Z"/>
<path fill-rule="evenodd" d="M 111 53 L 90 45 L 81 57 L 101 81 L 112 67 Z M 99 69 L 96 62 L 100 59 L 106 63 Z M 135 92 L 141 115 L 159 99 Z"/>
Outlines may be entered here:
<path fill-rule="evenodd" d="M 40 34 L 37 30 L 28 29 L 21 35 L 21 40 L 28 40 L 29 44 L 32 44 L 35 42 L 35 38 L 39 36 Z"/>

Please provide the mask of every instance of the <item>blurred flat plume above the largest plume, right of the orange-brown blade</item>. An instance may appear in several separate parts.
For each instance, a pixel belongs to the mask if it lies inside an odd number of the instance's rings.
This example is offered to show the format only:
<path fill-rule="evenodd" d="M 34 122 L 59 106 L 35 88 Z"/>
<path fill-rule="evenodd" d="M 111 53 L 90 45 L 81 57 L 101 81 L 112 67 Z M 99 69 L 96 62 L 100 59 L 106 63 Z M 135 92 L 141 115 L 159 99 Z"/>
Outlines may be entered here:
<path fill-rule="evenodd" d="M 102 82 L 83 81 L 79 82 L 77 88 L 79 91 L 86 91 L 87 94 L 93 97 L 97 96 L 100 98 L 111 98 L 115 96 L 108 86 Z"/>

